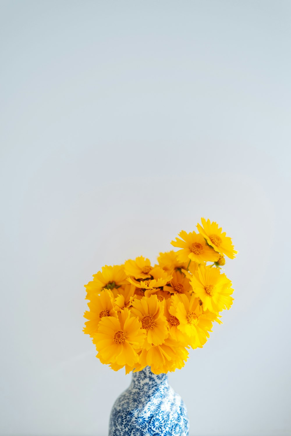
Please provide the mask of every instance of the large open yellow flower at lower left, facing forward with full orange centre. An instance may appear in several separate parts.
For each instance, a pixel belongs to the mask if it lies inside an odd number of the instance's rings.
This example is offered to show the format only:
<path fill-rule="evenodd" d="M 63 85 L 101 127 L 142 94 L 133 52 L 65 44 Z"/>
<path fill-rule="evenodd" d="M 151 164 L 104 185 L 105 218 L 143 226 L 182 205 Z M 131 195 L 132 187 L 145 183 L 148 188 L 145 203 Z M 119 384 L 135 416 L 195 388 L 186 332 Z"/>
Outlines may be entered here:
<path fill-rule="evenodd" d="M 131 316 L 129 309 L 123 309 L 117 318 L 102 318 L 93 338 L 93 344 L 98 351 L 97 357 L 106 363 L 134 366 L 139 360 L 136 349 L 145 340 L 141 327 L 141 323 Z"/>

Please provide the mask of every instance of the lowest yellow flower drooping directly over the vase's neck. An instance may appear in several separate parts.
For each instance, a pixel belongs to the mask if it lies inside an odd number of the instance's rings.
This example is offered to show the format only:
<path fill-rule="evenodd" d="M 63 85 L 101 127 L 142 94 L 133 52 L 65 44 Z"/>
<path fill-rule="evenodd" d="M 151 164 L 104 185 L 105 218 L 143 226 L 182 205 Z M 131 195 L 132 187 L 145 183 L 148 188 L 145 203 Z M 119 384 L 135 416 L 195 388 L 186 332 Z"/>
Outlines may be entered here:
<path fill-rule="evenodd" d="M 173 372 L 181 369 L 188 358 L 188 351 L 172 339 L 166 339 L 163 344 L 152 345 L 148 350 L 142 350 L 139 363 L 133 372 L 141 371 L 146 366 L 151 367 L 153 374 Z"/>

